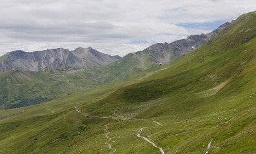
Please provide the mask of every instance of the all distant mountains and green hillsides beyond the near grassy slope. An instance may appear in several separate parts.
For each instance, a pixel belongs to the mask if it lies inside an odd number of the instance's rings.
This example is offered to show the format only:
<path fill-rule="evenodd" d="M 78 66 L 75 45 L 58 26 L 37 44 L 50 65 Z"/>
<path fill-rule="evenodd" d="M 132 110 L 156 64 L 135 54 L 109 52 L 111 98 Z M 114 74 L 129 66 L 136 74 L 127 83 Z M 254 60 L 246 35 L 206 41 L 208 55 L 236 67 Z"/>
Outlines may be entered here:
<path fill-rule="evenodd" d="M 60 48 L 34 53 L 23 51 L 8 53 L 0 58 L 0 62 L 19 65 L 21 70 L 44 69 L 44 71 L 36 73 L 10 71 L 0 74 L 0 85 L 5 87 L 0 89 L 0 109 L 42 103 L 66 94 L 120 80 L 158 65 L 159 62 L 168 64 L 200 46 L 228 24 L 228 22 L 222 24 L 217 30 L 206 35 L 192 35 L 188 39 L 177 40 L 171 44 L 155 44 L 143 51 L 129 53 L 120 60 L 118 60 L 119 56 L 99 53 L 91 47 L 86 49 L 79 47 L 71 52 Z M 64 67 L 66 65 L 77 68 L 86 67 L 86 69 Z M 95 65 L 106 66 L 90 67 Z M 50 69 L 59 67 L 63 68 Z M 5 70 L 16 68 L 18 67 L 5 68 Z"/>

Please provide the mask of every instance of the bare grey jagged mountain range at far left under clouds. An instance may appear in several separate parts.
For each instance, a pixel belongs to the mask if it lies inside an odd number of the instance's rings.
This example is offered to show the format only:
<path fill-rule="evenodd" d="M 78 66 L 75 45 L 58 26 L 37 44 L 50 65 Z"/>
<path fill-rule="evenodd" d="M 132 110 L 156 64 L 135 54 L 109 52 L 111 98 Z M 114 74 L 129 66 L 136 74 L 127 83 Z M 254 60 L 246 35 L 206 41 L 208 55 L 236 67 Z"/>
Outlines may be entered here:
<path fill-rule="evenodd" d="M 84 68 L 89 66 L 104 66 L 116 60 L 120 56 L 110 56 L 101 53 L 92 47 L 79 47 L 74 51 L 57 48 L 44 51 L 27 53 L 24 51 L 12 51 L 0 57 L 0 72 L 10 70 L 41 71 L 43 69 L 58 69 L 64 66 Z"/>

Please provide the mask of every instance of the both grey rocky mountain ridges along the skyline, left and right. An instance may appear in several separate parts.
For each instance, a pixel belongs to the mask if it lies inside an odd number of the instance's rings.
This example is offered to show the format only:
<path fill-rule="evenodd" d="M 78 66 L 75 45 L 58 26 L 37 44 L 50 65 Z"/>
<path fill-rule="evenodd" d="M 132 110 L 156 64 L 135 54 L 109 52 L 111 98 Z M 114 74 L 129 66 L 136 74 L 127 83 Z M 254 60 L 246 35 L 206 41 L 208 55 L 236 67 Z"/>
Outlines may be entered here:
<path fill-rule="evenodd" d="M 208 34 L 191 35 L 187 39 L 177 40 L 170 44 L 153 44 L 143 51 L 131 54 L 133 58 L 137 58 L 137 63 L 143 70 L 159 63 L 170 64 L 173 60 L 190 53 L 210 40 L 229 24 L 229 22 L 226 22 Z M 120 56 L 110 56 L 92 47 L 78 47 L 74 51 L 63 48 L 31 53 L 12 51 L 0 57 L 0 72 L 12 70 L 41 71 L 44 69 L 59 69 L 61 67 L 82 69 L 85 67 L 105 66 L 120 59 Z"/>

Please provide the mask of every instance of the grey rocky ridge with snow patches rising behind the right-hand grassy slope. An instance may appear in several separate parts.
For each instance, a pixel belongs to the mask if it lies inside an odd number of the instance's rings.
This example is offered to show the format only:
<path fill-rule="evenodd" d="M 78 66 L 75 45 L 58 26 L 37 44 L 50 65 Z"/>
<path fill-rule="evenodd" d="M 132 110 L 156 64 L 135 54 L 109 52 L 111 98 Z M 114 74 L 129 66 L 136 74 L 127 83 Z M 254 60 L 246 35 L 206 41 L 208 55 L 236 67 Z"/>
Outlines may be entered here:
<path fill-rule="evenodd" d="M 129 53 L 121 60 L 121 65 L 129 66 L 130 69 L 126 70 L 126 74 L 134 74 L 140 71 L 149 69 L 155 65 L 167 65 L 177 60 L 181 56 L 184 56 L 193 50 L 200 47 L 205 42 L 208 42 L 220 31 L 224 30 L 230 22 L 226 22 L 219 26 L 216 30 L 213 30 L 207 34 L 190 35 L 186 39 L 176 40 L 171 43 L 157 43 L 147 47 L 143 51 L 137 51 L 136 53 Z M 133 67 L 132 67 L 133 65 Z M 122 71 L 121 69 L 119 71 Z"/>

